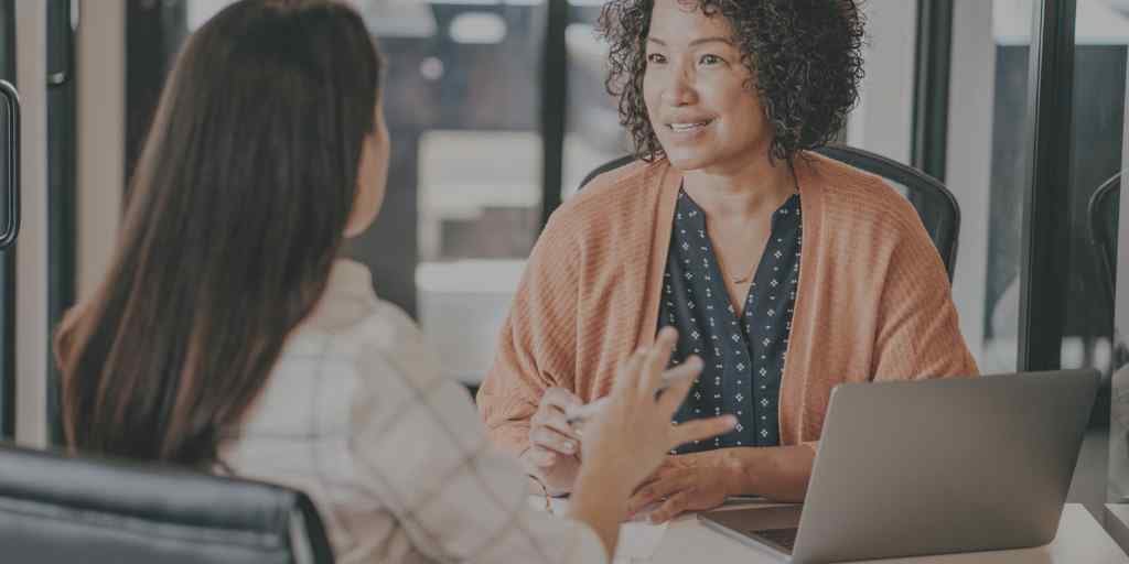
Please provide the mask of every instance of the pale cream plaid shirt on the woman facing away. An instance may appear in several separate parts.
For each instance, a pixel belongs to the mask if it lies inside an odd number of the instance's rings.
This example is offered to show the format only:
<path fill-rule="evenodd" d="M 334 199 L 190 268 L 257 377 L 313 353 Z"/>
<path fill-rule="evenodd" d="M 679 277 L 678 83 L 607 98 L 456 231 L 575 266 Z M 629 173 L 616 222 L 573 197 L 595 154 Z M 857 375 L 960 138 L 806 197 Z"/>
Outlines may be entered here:
<path fill-rule="evenodd" d="M 221 459 L 306 492 L 340 563 L 606 562 L 589 528 L 530 508 L 466 390 L 357 263 L 334 265 Z"/>

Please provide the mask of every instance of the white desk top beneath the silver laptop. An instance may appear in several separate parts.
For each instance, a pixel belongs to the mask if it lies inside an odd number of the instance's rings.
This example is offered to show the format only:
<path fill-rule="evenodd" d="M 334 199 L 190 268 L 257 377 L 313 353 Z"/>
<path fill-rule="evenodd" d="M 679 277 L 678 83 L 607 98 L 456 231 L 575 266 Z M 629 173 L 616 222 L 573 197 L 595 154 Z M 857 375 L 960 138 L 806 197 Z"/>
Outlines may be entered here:
<path fill-rule="evenodd" d="M 744 545 L 708 529 L 698 522 L 698 518 L 694 515 L 684 515 L 666 527 L 651 558 L 616 559 L 616 564 L 621 562 L 767 564 L 782 562 L 782 559 L 768 549 Z M 874 562 L 878 563 L 879 561 Z M 1054 541 L 1047 546 L 1022 550 L 883 559 L 881 564 L 971 564 L 973 562 L 978 564 L 1129 564 L 1129 556 L 1121 552 L 1085 508 L 1071 503 L 1067 504 L 1062 512 L 1058 536 Z"/>

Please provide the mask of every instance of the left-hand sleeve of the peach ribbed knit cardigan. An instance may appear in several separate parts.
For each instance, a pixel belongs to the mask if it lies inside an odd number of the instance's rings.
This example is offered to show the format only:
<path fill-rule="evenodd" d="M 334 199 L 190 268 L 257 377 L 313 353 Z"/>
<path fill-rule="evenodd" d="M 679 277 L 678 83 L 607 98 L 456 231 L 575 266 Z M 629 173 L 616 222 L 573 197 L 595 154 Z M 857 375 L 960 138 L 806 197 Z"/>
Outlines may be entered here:
<path fill-rule="evenodd" d="M 563 211 L 563 210 L 561 210 Z M 558 212 L 530 255 L 493 364 L 479 389 L 479 412 L 502 450 L 528 448 L 530 417 L 546 388 L 574 385 L 580 245 L 577 226 Z"/>

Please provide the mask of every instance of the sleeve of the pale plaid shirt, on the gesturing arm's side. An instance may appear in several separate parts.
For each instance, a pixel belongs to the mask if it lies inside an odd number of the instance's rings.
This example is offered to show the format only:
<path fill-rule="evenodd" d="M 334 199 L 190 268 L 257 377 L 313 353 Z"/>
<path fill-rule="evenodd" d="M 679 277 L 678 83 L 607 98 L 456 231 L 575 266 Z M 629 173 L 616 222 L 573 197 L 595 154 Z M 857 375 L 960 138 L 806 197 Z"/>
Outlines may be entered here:
<path fill-rule="evenodd" d="M 530 506 L 517 461 L 489 441 L 414 324 L 387 305 L 374 317 L 356 343 L 362 378 L 349 449 L 414 548 L 437 562 L 606 562 L 587 526 Z"/>

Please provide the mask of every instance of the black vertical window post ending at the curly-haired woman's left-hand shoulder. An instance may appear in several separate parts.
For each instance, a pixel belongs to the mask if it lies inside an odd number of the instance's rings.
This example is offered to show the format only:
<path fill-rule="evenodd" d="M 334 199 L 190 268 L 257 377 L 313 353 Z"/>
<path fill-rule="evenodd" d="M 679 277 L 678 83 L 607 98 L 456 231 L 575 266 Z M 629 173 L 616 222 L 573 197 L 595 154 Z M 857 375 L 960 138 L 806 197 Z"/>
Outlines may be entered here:
<path fill-rule="evenodd" d="M 561 204 L 564 171 L 564 127 L 568 112 L 569 1 L 549 0 L 545 21 L 544 64 L 541 67 L 541 227 Z"/>

